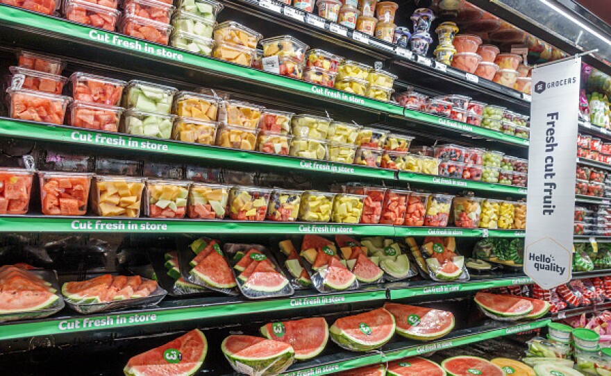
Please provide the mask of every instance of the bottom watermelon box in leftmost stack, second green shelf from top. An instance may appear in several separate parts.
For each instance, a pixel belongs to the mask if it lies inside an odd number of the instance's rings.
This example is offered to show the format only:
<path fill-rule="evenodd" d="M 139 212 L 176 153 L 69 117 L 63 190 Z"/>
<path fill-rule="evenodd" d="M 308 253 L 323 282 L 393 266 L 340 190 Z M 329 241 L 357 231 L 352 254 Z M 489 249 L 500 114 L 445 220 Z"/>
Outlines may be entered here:
<path fill-rule="evenodd" d="M 64 122 L 72 98 L 26 89 L 8 89 L 9 114 L 13 119 L 53 123 Z"/>

